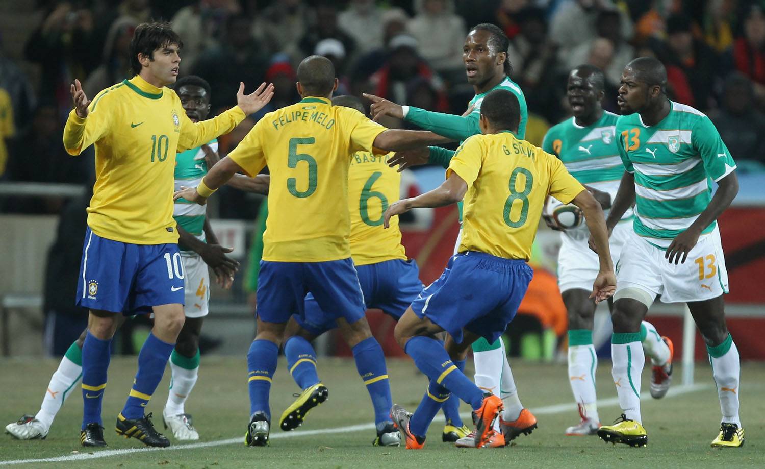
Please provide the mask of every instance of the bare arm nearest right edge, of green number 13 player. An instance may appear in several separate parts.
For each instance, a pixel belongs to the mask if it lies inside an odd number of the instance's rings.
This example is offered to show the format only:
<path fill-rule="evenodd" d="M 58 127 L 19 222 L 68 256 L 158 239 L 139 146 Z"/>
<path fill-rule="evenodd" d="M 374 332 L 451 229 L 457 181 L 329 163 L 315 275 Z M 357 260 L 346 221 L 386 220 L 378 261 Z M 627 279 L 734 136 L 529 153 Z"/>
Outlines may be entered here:
<path fill-rule="evenodd" d="M 691 226 L 688 226 L 688 230 L 683 231 L 675 239 L 672 239 L 672 243 L 669 244 L 664 258 L 670 264 L 673 261 L 675 265 L 678 262 L 685 263 L 685 259 L 688 259 L 688 252 L 691 252 L 693 246 L 696 246 L 696 243 L 698 243 L 698 236 L 702 236 L 702 231 L 713 221 L 717 220 L 725 209 L 731 205 L 731 202 L 736 198 L 736 194 L 738 194 L 738 176 L 736 171 L 731 171 L 730 174 L 718 181 L 718 190 L 712 196 L 709 205 L 691 223 Z"/>

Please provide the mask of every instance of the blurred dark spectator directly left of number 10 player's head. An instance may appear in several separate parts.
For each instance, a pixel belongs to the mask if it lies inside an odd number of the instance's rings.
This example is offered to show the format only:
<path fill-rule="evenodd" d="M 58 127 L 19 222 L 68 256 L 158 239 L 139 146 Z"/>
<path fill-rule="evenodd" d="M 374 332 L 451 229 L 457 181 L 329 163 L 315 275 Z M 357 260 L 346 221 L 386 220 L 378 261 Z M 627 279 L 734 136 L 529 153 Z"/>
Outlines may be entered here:
<path fill-rule="evenodd" d="M 101 90 L 132 78 L 130 70 L 130 40 L 138 23 L 127 16 L 117 18 L 109 28 L 103 44 L 103 61 L 83 82 L 86 96 L 95 97 Z"/>

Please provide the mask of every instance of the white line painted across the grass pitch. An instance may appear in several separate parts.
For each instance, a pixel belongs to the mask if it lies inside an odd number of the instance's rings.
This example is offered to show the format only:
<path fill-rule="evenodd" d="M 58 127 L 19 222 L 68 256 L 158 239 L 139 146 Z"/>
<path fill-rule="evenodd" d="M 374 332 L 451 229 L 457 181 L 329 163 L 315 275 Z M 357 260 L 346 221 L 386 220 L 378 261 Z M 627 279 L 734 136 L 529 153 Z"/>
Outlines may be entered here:
<path fill-rule="evenodd" d="M 708 389 L 710 387 L 711 387 L 710 385 L 705 385 L 705 384 L 693 384 L 691 386 L 678 386 L 678 387 L 669 389 L 669 392 L 667 393 L 666 397 L 682 396 L 683 394 L 688 394 L 689 392 L 697 392 L 697 391 L 701 391 L 702 389 Z M 648 399 L 649 397 L 650 397 L 650 394 L 648 392 L 643 392 L 642 394 L 640 394 L 640 399 Z M 610 407 L 614 405 L 619 405 L 619 399 L 615 397 L 612 397 L 610 399 L 601 399 L 597 401 L 598 407 Z M 574 409 L 574 405 L 571 402 L 566 402 L 565 404 L 545 405 L 545 407 L 539 407 L 539 409 L 532 409 L 532 412 L 535 415 L 552 415 L 552 414 L 559 414 L 562 412 L 573 411 L 573 409 Z M 470 413 L 463 412 L 461 416 L 470 417 Z M 275 440 L 278 438 L 300 438 L 303 436 L 320 435 L 320 434 L 325 435 L 328 433 L 359 432 L 361 430 L 371 430 L 373 428 L 375 428 L 375 424 L 373 423 L 362 423 L 359 425 L 348 425 L 346 427 L 322 428 L 321 430 L 303 430 L 299 432 L 277 433 L 275 435 L 271 435 L 270 439 Z M 148 451 L 180 451 L 180 450 L 210 448 L 213 446 L 236 445 L 236 444 L 243 445 L 243 438 L 241 437 L 227 438 L 225 440 L 205 441 L 203 443 L 190 443 L 188 445 L 174 445 L 174 446 L 171 446 L 170 448 L 111 449 L 106 451 L 96 451 L 95 453 L 67 454 L 66 456 L 58 456 L 57 458 L 17 459 L 17 460 L 11 460 L 11 461 L 0 461 L 0 466 L 10 466 L 14 464 L 46 463 L 46 462 L 83 461 L 86 459 L 109 458 L 111 456 L 119 456 L 122 454 L 145 453 Z"/>

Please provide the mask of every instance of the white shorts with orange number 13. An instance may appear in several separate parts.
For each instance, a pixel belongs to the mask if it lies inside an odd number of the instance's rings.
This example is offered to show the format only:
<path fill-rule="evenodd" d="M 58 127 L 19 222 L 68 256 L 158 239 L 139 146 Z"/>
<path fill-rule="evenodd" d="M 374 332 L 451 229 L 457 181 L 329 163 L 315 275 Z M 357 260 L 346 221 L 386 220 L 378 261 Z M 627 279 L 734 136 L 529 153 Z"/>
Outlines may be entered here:
<path fill-rule="evenodd" d="M 661 295 L 664 303 L 685 303 L 728 293 L 728 271 L 718 226 L 698 238 L 685 263 L 670 264 L 665 254 L 632 231 L 617 264 L 616 295 L 624 288 L 640 288 L 654 299 Z"/>

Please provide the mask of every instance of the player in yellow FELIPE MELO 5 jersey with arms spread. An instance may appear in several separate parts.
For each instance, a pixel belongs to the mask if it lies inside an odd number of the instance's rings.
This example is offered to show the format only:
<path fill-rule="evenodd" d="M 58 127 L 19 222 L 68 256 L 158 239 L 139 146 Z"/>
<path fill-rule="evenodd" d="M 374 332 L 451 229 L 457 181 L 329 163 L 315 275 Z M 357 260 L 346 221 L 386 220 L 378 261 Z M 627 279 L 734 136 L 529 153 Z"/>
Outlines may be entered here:
<path fill-rule="evenodd" d="M 309 291 L 322 310 L 330 311 L 328 318 L 337 319 L 349 344 L 369 340 L 374 346 L 374 358 L 364 360 L 359 373 L 367 380 L 379 378 L 375 383 L 389 388 L 385 359 L 364 318 L 366 306 L 351 259 L 348 168 L 356 151 L 412 148 L 435 138 L 431 132 L 389 130 L 355 109 L 332 106 L 337 78 L 326 57 L 304 59 L 297 86 L 303 98 L 299 103 L 266 114 L 196 189 L 175 195 L 203 203 L 236 171 L 258 174 L 269 166 L 258 333 L 247 356 L 251 420 L 246 443 L 253 446 L 268 442 L 278 347 L 291 315 L 304 316 Z M 314 390 L 316 399 L 326 399 L 326 392 Z"/>

